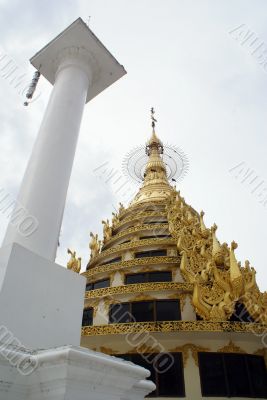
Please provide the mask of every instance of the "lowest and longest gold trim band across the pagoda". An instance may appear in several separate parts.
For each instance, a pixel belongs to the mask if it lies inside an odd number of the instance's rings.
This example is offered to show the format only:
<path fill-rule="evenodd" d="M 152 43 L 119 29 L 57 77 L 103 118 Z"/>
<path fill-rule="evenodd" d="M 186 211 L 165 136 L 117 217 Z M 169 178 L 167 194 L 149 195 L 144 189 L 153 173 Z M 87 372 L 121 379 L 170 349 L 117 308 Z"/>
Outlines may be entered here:
<path fill-rule="evenodd" d="M 228 321 L 162 321 L 84 326 L 82 336 L 122 335 L 139 332 L 239 332 L 264 333 L 266 325 Z"/>

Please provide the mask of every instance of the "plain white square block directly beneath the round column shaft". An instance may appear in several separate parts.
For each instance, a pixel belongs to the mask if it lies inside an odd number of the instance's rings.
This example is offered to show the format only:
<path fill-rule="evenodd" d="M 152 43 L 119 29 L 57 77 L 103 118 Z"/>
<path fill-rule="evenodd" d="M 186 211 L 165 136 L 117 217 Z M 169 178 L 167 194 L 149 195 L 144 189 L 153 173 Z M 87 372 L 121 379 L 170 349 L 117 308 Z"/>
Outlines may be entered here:
<path fill-rule="evenodd" d="M 28 349 L 79 346 L 85 283 L 16 243 L 0 249 L 0 342 L 4 327 Z"/>

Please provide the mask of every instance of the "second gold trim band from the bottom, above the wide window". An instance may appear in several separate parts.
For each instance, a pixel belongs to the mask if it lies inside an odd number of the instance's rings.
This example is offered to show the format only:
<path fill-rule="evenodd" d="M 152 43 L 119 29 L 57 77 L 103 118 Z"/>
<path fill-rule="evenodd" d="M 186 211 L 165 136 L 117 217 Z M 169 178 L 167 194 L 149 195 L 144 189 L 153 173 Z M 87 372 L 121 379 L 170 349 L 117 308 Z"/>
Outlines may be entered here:
<path fill-rule="evenodd" d="M 112 296 L 114 294 L 129 294 L 141 292 L 160 292 L 162 290 L 181 290 L 192 293 L 193 285 L 191 283 L 181 282 L 149 282 L 133 283 L 130 285 L 106 287 L 85 292 L 85 299 L 97 297 Z"/>

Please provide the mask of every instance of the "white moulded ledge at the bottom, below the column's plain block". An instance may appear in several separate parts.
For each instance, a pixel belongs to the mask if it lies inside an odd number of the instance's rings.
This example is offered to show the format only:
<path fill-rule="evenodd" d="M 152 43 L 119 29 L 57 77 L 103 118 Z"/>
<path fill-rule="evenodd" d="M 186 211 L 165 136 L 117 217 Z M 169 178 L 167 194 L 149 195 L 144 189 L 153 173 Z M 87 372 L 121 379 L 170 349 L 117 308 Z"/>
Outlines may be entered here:
<path fill-rule="evenodd" d="M 14 348 L 11 353 L 29 358 Z M 1 400 L 141 400 L 155 389 L 144 380 L 150 374 L 146 369 L 82 347 L 32 352 L 30 357 L 33 371 L 23 375 L 23 362 L 11 366 L 0 350 Z"/>

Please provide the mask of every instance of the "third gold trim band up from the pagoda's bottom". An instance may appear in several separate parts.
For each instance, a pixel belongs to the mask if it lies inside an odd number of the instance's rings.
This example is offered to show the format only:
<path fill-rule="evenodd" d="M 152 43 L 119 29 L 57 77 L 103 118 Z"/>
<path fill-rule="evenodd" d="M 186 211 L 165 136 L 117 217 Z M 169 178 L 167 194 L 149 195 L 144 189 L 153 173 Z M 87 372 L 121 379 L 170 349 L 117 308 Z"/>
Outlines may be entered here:
<path fill-rule="evenodd" d="M 85 278 L 95 277 L 96 274 L 101 274 L 103 272 L 113 272 L 120 269 L 127 269 L 131 267 L 137 267 L 142 265 L 155 265 L 155 264 L 179 264 L 180 257 L 168 257 L 168 256 L 158 256 L 158 257 L 145 257 L 145 258 L 134 258 L 132 260 L 121 261 L 113 264 L 99 265 L 94 268 L 90 268 L 88 271 L 83 272 L 81 275 Z"/>

